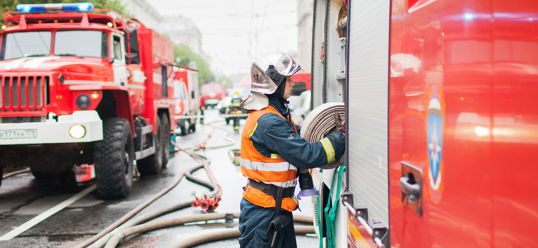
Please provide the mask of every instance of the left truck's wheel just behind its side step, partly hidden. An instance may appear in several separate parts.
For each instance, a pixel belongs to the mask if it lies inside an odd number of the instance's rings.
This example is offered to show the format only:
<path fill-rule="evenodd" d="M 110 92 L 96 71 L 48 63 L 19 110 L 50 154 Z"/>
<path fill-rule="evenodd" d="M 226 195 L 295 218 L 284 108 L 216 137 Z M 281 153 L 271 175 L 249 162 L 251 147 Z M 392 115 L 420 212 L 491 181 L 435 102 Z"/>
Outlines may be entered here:
<path fill-rule="evenodd" d="M 141 176 L 159 174 L 162 169 L 162 125 L 159 116 L 155 119 L 157 135 L 153 135 L 155 141 L 155 153 L 137 161 L 138 172 Z M 169 149 L 168 147 L 166 149 Z"/>

